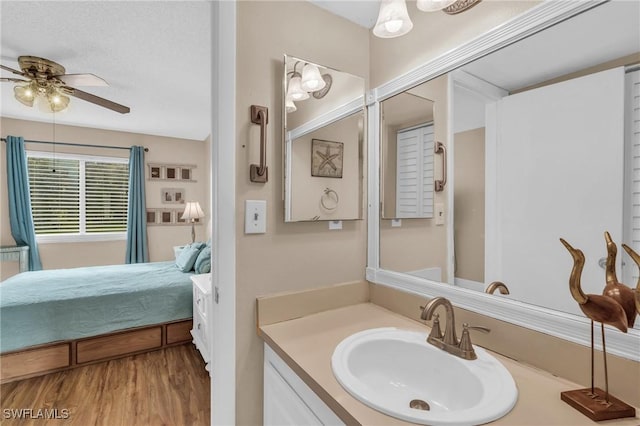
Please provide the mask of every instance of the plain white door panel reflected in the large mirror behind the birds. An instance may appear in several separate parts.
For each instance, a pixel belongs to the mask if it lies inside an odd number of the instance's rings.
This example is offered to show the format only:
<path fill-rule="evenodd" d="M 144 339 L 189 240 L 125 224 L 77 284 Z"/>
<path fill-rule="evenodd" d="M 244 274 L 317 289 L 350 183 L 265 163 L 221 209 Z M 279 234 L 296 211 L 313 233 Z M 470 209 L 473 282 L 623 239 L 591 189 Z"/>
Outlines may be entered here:
<path fill-rule="evenodd" d="M 602 293 L 603 234 L 622 238 L 624 70 L 508 96 L 495 107 L 497 126 L 487 127 L 497 141 L 487 139 L 495 159 L 487 157 L 486 280 L 507 283 L 514 299 L 582 315 L 568 289 L 573 260 L 559 238 L 584 251 L 585 293 Z"/>

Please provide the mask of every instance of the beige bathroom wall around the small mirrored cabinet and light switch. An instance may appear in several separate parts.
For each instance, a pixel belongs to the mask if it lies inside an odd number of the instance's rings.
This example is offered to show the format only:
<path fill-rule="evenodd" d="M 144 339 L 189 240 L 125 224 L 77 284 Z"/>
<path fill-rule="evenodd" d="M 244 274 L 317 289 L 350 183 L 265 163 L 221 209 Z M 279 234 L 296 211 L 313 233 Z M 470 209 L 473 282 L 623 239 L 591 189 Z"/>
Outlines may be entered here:
<path fill-rule="evenodd" d="M 237 11 L 236 424 L 256 425 L 262 423 L 263 351 L 256 297 L 363 279 L 366 263 L 364 220 L 344 222 L 341 231 L 329 231 L 327 222 L 284 223 L 282 58 L 305 58 L 368 81 L 369 33 L 308 2 L 242 1 Z M 269 108 L 266 184 L 249 181 L 260 137 L 249 120 L 252 104 Z M 248 199 L 267 200 L 266 234 L 244 234 Z"/>

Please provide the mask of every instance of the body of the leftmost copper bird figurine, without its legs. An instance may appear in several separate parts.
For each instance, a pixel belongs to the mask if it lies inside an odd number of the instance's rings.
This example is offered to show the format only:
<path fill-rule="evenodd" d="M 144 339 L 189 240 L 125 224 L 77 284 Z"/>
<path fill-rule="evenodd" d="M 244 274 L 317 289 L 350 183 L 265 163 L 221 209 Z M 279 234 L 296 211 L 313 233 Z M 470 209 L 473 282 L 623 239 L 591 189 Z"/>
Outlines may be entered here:
<path fill-rule="evenodd" d="M 609 296 L 599 294 L 585 294 L 580 286 L 582 269 L 584 268 L 584 253 L 580 249 L 574 249 L 564 239 L 560 242 L 569 250 L 573 257 L 573 269 L 569 277 L 569 290 L 571 296 L 578 302 L 580 309 L 587 318 L 603 324 L 609 324 L 622 331 L 627 332 L 627 314 L 622 306 Z"/>

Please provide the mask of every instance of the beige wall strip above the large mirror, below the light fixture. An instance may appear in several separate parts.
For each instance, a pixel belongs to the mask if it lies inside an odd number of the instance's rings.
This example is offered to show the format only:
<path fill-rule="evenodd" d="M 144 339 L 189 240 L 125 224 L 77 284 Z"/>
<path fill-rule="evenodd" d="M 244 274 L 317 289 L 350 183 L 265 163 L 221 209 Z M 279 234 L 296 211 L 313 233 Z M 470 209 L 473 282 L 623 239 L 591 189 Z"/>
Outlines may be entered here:
<path fill-rule="evenodd" d="M 466 43 L 540 1 L 484 0 L 458 15 L 420 12 L 414 1 L 407 2 L 413 29 L 399 38 L 371 36 L 371 87 L 395 77 Z"/>

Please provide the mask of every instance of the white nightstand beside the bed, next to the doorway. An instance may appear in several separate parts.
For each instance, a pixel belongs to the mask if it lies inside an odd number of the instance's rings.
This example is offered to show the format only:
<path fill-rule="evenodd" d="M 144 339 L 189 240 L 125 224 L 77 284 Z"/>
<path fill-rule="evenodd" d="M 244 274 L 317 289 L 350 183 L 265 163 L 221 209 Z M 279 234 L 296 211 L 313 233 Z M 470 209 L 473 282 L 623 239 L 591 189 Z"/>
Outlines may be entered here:
<path fill-rule="evenodd" d="M 205 368 L 211 374 L 211 331 L 208 328 L 208 321 L 211 315 L 211 274 L 192 275 L 193 282 L 193 344 L 200 351 L 202 359 L 206 363 Z"/>

